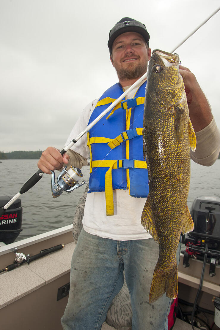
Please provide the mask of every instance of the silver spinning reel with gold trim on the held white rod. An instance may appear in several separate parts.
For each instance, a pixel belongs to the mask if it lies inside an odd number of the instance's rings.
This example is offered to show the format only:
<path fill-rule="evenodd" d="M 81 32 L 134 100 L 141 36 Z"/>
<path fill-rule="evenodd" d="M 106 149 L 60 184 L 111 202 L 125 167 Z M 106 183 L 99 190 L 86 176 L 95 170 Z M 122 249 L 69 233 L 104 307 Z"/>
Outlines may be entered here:
<path fill-rule="evenodd" d="M 53 198 L 59 197 L 64 191 L 72 192 L 74 189 L 82 186 L 86 183 L 83 180 L 81 183 L 78 181 L 83 177 L 82 172 L 79 168 L 71 166 L 68 171 L 66 171 L 66 167 L 64 167 L 63 171 L 59 174 L 57 178 L 57 183 L 55 182 L 55 173 L 51 171 L 51 192 Z"/>

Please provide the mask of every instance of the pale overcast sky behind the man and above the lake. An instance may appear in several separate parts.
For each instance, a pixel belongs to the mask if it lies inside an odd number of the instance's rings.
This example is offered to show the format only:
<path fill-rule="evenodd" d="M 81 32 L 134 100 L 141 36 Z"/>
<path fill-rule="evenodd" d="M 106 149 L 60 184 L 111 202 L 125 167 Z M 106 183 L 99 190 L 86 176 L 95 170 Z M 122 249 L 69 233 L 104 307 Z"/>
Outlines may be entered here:
<path fill-rule="evenodd" d="M 134 5 L 135 4 L 135 5 Z M 0 0 L 0 151 L 62 149 L 80 111 L 117 82 L 107 47 L 122 17 L 171 51 L 219 0 Z M 176 52 L 220 127 L 220 11 Z"/>

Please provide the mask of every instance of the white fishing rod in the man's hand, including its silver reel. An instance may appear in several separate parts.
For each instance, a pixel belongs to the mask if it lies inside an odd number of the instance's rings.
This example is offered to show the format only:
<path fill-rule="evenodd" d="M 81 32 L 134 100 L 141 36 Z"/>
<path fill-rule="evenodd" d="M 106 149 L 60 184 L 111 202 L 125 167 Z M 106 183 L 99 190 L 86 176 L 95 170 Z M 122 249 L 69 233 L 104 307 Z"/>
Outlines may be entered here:
<path fill-rule="evenodd" d="M 214 16 L 220 7 L 211 14 L 205 21 L 203 21 L 193 32 L 189 34 L 179 45 L 177 45 L 171 53 L 173 53 L 177 48 L 179 48 L 187 39 L 189 39 L 198 29 L 204 25 L 212 16 Z M 121 96 L 119 96 L 106 110 L 104 110 L 96 119 L 94 119 L 80 134 L 77 135 L 72 141 L 68 143 L 68 145 L 60 150 L 62 156 L 69 150 L 85 133 L 87 133 L 90 128 L 92 128 L 101 118 L 103 118 L 111 109 L 113 109 L 116 105 L 118 105 L 123 98 L 133 89 L 135 88 L 140 82 L 147 78 L 147 72 L 139 78 L 133 85 L 131 85 Z M 72 192 L 74 189 L 82 186 L 86 183 L 86 181 L 82 181 L 79 183 L 79 179 L 83 177 L 82 172 L 80 169 L 71 166 L 70 169 L 67 171 L 66 166 L 64 167 L 63 171 L 57 178 L 57 183 L 55 182 L 55 173 L 51 171 L 52 179 L 51 179 L 51 190 L 53 198 L 60 196 L 64 191 Z M 24 183 L 21 190 L 5 205 L 0 209 L 0 216 L 3 215 L 6 210 L 26 191 L 32 188 L 43 176 L 44 172 L 42 170 L 38 170 L 27 182 Z"/>

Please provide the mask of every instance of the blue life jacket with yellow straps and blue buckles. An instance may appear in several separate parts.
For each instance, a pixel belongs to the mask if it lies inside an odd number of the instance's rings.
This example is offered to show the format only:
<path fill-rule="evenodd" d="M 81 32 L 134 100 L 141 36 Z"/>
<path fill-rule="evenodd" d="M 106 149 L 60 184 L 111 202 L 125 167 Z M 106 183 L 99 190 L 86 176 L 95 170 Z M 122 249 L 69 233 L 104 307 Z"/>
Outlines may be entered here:
<path fill-rule="evenodd" d="M 88 132 L 90 149 L 89 193 L 105 191 L 107 215 L 114 215 L 113 189 L 129 188 L 133 197 L 147 197 L 148 170 L 143 159 L 143 114 L 146 82 L 134 99 L 120 102 L 110 115 L 100 119 Z M 120 83 L 100 97 L 90 124 L 124 92 Z"/>

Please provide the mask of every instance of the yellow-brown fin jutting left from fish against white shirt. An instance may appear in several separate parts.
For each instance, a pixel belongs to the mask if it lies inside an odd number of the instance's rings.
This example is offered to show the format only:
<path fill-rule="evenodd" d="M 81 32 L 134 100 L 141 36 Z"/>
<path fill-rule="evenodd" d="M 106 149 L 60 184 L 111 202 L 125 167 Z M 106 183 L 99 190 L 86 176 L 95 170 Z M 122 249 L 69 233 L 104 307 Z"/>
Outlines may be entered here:
<path fill-rule="evenodd" d="M 141 224 L 146 229 L 146 231 L 149 232 L 149 234 L 153 237 L 154 241 L 157 244 L 160 244 L 160 239 L 157 234 L 157 230 L 156 230 L 155 223 L 154 223 L 154 216 L 153 216 L 153 212 L 152 212 L 150 199 L 151 199 L 151 197 L 150 197 L 150 195 L 148 195 L 148 198 L 146 200 L 146 203 L 145 203 L 144 209 L 142 211 L 142 215 L 141 215 Z"/>

